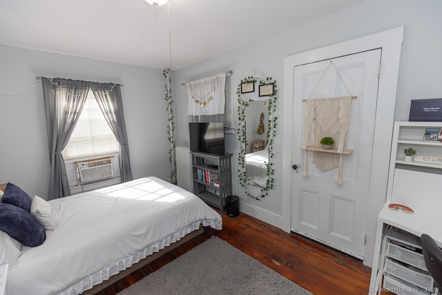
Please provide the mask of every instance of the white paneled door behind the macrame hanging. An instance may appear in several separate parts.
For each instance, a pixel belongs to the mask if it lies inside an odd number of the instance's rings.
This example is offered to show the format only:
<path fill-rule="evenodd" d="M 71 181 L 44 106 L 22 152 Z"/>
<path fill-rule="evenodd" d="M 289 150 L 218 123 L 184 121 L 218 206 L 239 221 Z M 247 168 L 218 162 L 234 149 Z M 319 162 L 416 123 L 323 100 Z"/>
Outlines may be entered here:
<path fill-rule="evenodd" d="M 294 67 L 292 162 L 298 169 L 292 170 L 291 230 L 363 258 L 381 50 L 332 61 L 338 71 L 331 66 L 322 79 L 330 60 Z M 352 99 L 345 146 L 353 152 L 343 155 L 342 184 L 336 182 L 338 169 L 322 172 L 311 162 L 311 151 L 307 157 L 308 176 L 302 173 L 305 168 L 301 149 L 305 117 L 302 99 L 315 98 L 310 96 L 314 89 L 321 97 L 347 96 L 347 89 L 357 95 Z"/>

